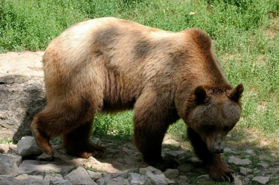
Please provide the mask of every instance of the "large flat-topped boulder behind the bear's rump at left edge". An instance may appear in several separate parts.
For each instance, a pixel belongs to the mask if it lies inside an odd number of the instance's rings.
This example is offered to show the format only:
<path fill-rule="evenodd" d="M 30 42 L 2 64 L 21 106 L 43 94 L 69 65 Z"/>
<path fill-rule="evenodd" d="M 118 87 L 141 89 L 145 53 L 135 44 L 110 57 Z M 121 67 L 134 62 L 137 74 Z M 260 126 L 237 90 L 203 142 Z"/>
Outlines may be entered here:
<path fill-rule="evenodd" d="M 42 51 L 0 54 L 0 139 L 32 135 L 33 116 L 45 106 Z"/>

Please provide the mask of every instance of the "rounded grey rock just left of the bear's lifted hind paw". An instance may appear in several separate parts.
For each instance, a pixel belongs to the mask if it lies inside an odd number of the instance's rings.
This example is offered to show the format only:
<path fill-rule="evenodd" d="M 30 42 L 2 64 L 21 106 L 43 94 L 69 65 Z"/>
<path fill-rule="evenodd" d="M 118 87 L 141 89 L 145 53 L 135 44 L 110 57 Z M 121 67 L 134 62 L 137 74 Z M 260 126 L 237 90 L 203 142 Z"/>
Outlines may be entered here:
<path fill-rule="evenodd" d="M 34 137 L 24 136 L 17 142 L 17 152 L 24 157 L 39 154 L 42 150 L 37 146 Z"/>

